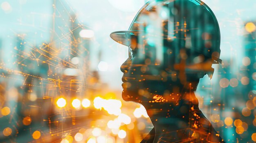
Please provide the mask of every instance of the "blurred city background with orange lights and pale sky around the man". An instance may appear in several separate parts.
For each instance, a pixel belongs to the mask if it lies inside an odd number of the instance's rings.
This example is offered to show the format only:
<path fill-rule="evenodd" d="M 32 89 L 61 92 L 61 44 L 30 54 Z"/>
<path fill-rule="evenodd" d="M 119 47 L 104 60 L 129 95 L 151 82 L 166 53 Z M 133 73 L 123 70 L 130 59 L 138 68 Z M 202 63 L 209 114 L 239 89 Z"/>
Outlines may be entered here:
<path fill-rule="evenodd" d="M 128 49 L 109 34 L 147 1 L 1 0 L 0 142 L 139 143 L 153 126 L 121 99 Z M 200 80 L 200 109 L 227 143 L 256 142 L 256 2 L 204 2 L 223 63 Z"/>

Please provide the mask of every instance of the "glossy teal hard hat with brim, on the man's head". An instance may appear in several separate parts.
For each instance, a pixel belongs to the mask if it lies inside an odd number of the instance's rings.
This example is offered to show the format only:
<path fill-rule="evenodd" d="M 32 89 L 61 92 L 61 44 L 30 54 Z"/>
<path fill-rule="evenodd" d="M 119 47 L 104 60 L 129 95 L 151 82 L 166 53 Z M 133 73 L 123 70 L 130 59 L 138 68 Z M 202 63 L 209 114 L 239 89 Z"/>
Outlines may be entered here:
<path fill-rule="evenodd" d="M 212 59 L 213 64 L 222 63 L 219 24 L 201 0 L 150 0 L 139 10 L 128 31 L 112 32 L 110 37 L 126 46 L 135 38 L 141 45 L 146 42 L 162 47 L 162 59 L 171 63 L 182 59 L 177 56 L 181 49 L 189 61 Z"/>

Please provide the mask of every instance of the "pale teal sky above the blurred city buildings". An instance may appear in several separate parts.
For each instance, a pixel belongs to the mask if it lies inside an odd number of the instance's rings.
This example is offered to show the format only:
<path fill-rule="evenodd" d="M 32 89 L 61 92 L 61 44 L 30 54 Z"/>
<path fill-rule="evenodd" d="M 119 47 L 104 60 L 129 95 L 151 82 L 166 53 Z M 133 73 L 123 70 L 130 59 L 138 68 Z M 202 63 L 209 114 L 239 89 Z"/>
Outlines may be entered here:
<path fill-rule="evenodd" d="M 49 42 L 52 29 L 53 0 L 8 0 L 11 10 L 4 11 L 0 2 L 0 39 L 5 62 L 12 61 L 10 49 L 16 33 L 26 33 L 34 45 Z M 107 62 L 108 71 L 100 72 L 110 87 L 121 88 L 121 64 L 127 58 L 127 48 L 110 39 L 113 31 L 127 30 L 145 0 L 63 0 L 74 9 L 81 23 L 95 33 L 91 49 L 91 68 L 97 70 L 100 61 Z M 255 0 L 204 0 L 213 10 L 221 31 L 221 59 L 233 60 L 239 67 L 243 55 L 244 24 L 256 21 Z M 101 51 L 101 59 L 98 55 Z M 236 70 L 236 68 L 234 68 Z M 114 78 L 113 78 L 114 77 Z"/>

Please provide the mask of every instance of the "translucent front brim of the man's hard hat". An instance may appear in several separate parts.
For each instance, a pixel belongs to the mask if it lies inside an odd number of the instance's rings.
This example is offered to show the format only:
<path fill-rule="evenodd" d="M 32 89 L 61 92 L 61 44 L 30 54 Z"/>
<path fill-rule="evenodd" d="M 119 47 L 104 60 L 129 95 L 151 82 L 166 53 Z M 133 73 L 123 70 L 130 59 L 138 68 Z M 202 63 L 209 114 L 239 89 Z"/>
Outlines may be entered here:
<path fill-rule="evenodd" d="M 131 44 L 131 37 L 137 36 L 138 33 L 142 31 L 115 31 L 110 33 L 110 37 L 120 44 L 129 46 Z"/>

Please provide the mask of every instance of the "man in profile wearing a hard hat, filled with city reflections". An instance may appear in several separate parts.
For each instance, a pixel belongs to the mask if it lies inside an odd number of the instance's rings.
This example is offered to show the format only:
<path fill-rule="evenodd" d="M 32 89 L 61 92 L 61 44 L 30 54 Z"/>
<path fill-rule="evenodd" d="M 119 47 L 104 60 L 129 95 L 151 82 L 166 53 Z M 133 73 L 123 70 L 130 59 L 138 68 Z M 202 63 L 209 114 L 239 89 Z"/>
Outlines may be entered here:
<path fill-rule="evenodd" d="M 151 0 L 128 31 L 110 37 L 128 46 L 122 98 L 142 104 L 154 128 L 141 143 L 224 143 L 198 108 L 199 79 L 220 64 L 220 29 L 200 0 Z"/>

